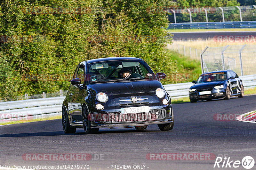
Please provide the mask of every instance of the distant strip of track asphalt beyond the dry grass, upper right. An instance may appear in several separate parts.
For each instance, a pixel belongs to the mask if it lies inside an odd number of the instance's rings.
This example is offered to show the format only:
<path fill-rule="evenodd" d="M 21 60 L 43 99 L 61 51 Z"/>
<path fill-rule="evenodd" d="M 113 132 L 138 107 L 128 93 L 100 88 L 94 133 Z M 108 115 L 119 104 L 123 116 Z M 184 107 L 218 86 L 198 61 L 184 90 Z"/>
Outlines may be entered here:
<path fill-rule="evenodd" d="M 214 36 L 256 36 L 256 31 L 172 32 L 173 40 L 212 39 Z"/>

